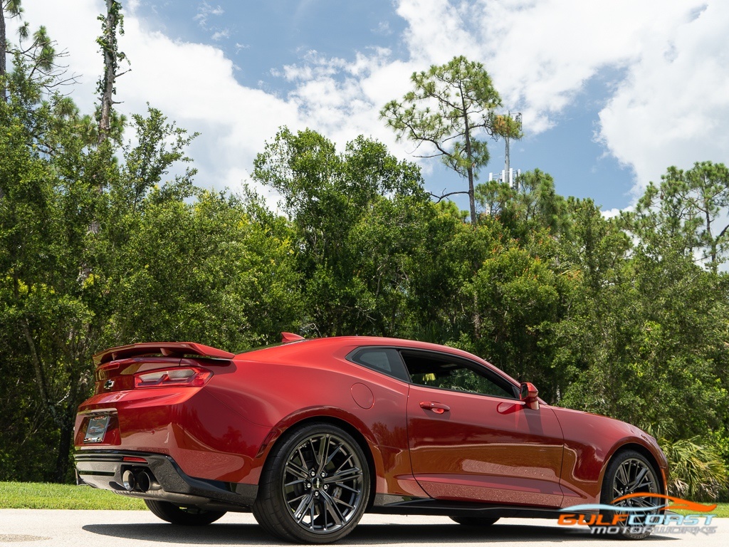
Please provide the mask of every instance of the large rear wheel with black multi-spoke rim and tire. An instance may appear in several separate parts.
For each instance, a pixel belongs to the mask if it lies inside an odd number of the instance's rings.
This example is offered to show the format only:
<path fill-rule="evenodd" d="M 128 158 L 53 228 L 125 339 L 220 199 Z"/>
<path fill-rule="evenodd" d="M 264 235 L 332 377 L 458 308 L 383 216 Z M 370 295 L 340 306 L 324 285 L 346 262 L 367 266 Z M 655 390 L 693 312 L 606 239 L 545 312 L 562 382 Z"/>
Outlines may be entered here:
<path fill-rule="evenodd" d="M 369 498 L 370 468 L 359 443 L 335 425 L 306 424 L 269 454 L 253 515 L 277 538 L 330 543 L 356 527 Z"/>

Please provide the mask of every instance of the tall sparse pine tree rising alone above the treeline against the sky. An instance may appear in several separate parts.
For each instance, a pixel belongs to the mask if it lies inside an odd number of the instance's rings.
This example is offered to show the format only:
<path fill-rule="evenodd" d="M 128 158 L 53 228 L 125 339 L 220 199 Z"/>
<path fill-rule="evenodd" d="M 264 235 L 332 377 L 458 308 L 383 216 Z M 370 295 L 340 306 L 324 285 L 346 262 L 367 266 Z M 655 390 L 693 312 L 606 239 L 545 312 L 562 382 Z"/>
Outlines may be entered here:
<path fill-rule="evenodd" d="M 502 135 L 518 139 L 521 131 L 510 117 L 497 116 L 499 93 L 481 63 L 454 57 L 428 71 L 410 77 L 413 90 L 402 102 L 390 101 L 380 112 L 398 139 L 429 144 L 434 152 L 420 158 L 440 157 L 446 166 L 468 180 L 471 222 L 477 223 L 475 180 L 488 163 L 488 147 L 482 135 Z"/>

